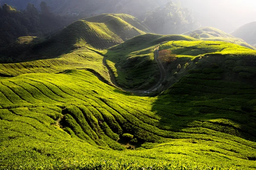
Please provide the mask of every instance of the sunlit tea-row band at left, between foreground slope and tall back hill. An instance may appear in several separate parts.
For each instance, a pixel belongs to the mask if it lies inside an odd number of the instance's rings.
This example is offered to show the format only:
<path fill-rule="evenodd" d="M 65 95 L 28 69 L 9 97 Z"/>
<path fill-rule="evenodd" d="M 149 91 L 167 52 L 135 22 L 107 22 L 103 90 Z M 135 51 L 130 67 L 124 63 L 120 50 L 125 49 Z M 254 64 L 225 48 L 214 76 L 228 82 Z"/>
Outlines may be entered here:
<path fill-rule="evenodd" d="M 102 65 L 103 57 L 87 48 L 74 50 L 56 59 L 0 64 L 0 76 L 14 77 L 30 73 L 60 73 L 70 69 L 88 69 L 110 81 L 108 69 Z"/>

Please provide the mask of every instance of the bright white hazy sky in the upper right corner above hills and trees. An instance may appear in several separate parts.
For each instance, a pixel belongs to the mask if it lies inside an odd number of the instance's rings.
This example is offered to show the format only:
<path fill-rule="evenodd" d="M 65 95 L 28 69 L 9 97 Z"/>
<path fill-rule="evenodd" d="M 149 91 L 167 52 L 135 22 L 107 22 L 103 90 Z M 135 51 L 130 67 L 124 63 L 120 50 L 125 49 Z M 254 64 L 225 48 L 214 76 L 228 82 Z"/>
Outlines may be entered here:
<path fill-rule="evenodd" d="M 180 0 L 194 11 L 202 26 L 213 26 L 227 33 L 256 21 L 256 0 Z"/>

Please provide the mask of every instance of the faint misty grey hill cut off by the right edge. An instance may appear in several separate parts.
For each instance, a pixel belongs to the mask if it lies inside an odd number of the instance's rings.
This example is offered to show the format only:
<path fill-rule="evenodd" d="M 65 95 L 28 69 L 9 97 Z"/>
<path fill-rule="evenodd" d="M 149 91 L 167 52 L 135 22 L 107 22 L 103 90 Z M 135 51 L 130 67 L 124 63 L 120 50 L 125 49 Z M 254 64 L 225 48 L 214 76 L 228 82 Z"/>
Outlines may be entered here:
<path fill-rule="evenodd" d="M 256 22 L 245 24 L 231 33 L 233 36 L 241 38 L 251 45 L 256 44 Z"/>

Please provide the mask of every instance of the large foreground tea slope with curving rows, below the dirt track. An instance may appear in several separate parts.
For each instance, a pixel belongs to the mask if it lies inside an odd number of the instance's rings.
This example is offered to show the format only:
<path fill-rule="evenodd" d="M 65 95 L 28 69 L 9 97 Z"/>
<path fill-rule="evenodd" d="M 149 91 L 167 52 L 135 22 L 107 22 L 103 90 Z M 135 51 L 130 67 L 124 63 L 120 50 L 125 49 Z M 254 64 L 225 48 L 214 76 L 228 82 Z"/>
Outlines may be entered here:
<path fill-rule="evenodd" d="M 193 78 L 186 79 L 190 81 L 181 82 L 195 86 Z M 209 83 L 205 90 L 215 93 L 198 88 L 200 96 L 195 97 L 195 91 L 187 88 L 177 94 L 176 84 L 155 98 L 129 96 L 87 71 L 3 79 L 1 168 L 22 169 L 23 165 L 33 169 L 43 164 L 47 168 L 78 168 L 92 161 L 96 166 L 100 159 L 109 160 L 108 166 L 122 159 L 140 166 L 169 161 L 173 167 L 255 168 L 256 145 L 251 142 L 255 141 L 255 117 L 241 109 L 244 103 L 253 102 L 255 89 L 245 83 L 199 80 Z M 223 83 L 236 87 L 231 93 L 216 93 Z M 133 134 L 140 142 L 161 144 L 143 144 L 131 151 L 107 150 L 124 149 L 115 142 L 123 133 Z"/>

